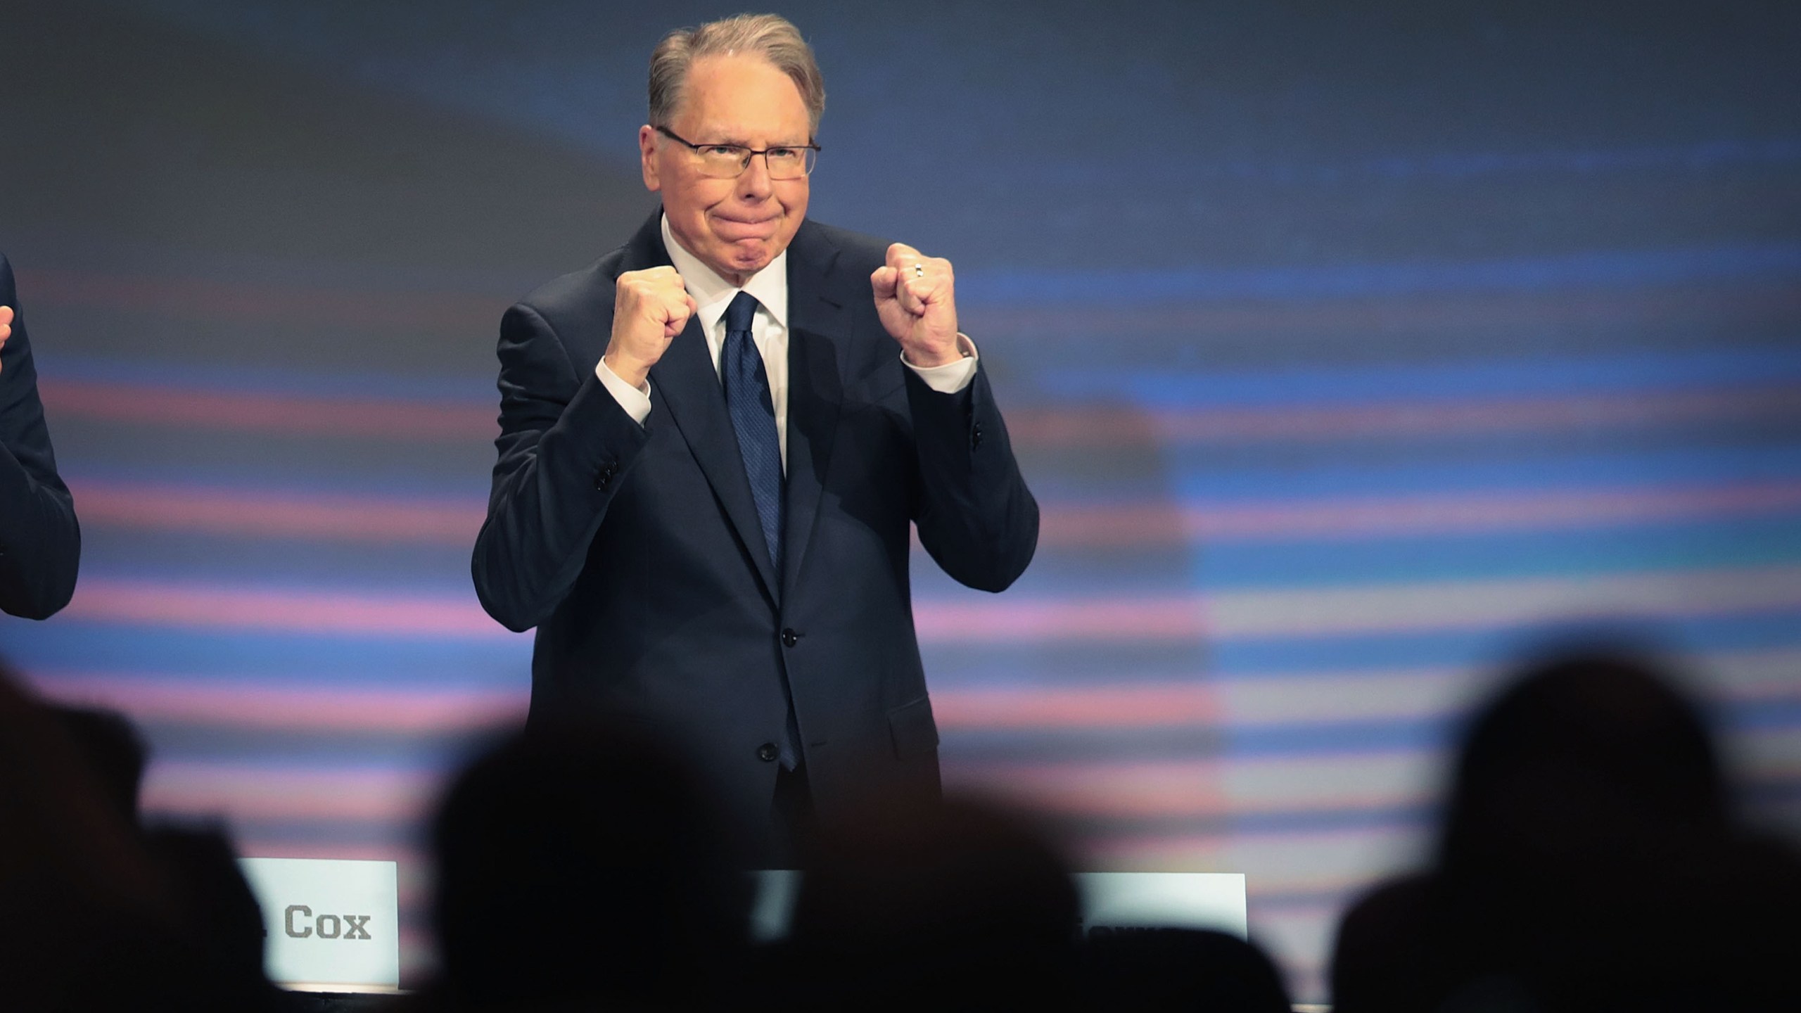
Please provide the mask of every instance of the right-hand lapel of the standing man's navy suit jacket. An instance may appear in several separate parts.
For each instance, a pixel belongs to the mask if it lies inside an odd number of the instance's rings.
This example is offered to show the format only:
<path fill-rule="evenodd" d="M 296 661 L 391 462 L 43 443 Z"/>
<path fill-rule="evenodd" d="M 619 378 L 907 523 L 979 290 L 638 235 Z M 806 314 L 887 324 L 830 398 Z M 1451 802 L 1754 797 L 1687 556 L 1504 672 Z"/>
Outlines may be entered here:
<path fill-rule="evenodd" d="M 789 245 L 789 424 L 787 490 L 783 501 L 782 557 L 783 589 L 792 591 L 819 497 L 832 463 L 837 413 L 845 400 L 843 335 L 845 299 L 834 283 L 837 249 L 805 224 Z"/>

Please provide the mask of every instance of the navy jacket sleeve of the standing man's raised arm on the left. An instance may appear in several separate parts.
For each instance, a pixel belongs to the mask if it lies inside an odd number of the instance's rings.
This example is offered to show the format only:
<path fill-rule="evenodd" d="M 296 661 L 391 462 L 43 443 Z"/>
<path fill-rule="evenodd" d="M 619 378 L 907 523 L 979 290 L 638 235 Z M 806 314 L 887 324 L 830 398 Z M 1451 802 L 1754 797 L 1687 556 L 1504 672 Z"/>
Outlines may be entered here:
<path fill-rule="evenodd" d="M 648 427 L 531 306 L 501 319 L 501 436 L 488 519 L 475 537 L 475 595 L 513 631 L 538 625 L 575 586 Z"/>

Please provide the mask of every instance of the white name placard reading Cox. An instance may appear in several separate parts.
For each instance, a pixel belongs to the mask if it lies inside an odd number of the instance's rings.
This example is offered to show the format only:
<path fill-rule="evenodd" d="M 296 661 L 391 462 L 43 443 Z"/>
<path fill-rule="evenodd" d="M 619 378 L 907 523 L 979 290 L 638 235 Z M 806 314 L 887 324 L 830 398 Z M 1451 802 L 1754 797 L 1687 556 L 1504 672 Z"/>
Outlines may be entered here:
<path fill-rule="evenodd" d="M 400 988 L 393 862 L 240 858 L 263 907 L 263 966 L 285 988 Z"/>

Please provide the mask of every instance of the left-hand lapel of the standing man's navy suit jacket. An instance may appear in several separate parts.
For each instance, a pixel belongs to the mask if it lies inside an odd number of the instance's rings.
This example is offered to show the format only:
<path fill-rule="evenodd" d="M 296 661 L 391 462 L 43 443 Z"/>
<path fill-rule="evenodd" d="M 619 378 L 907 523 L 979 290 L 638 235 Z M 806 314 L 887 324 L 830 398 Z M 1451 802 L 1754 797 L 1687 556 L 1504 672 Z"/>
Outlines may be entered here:
<path fill-rule="evenodd" d="M 630 260 L 643 260 L 643 263 L 621 265 L 625 270 L 670 263 L 668 251 L 663 249 L 659 216 L 661 209 L 647 225 L 654 249 L 634 251 L 641 256 Z M 639 231 L 638 240 L 645 240 L 645 231 Z M 764 589 L 771 600 L 782 600 L 782 584 L 769 561 L 764 526 L 756 517 L 756 503 L 751 499 L 751 481 L 744 476 L 738 436 L 731 429 L 731 415 L 726 413 L 726 393 L 719 386 L 719 373 L 713 370 L 713 355 L 706 350 L 706 335 L 701 333 L 699 319 L 690 317 L 688 326 L 675 335 L 663 359 L 650 368 L 650 404 L 652 418 L 657 415 L 657 406 L 668 411 L 670 422 L 688 443 L 688 451 L 701 465 L 701 474 L 713 487 L 713 496 L 737 530 L 738 543 L 756 566 L 756 577 Z"/>

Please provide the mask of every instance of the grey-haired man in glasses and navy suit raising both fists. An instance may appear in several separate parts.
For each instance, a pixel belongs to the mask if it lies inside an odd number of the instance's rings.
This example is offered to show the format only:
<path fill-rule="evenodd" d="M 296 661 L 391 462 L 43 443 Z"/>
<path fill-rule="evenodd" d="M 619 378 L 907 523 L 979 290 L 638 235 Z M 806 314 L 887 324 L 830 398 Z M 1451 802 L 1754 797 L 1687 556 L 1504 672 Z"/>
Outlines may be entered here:
<path fill-rule="evenodd" d="M 805 222 L 821 108 L 782 18 L 659 43 L 663 207 L 502 319 L 474 553 L 488 613 L 537 627 L 533 723 L 656 723 L 764 842 L 938 793 L 910 523 L 991 591 L 1037 544 L 951 263 Z"/>

